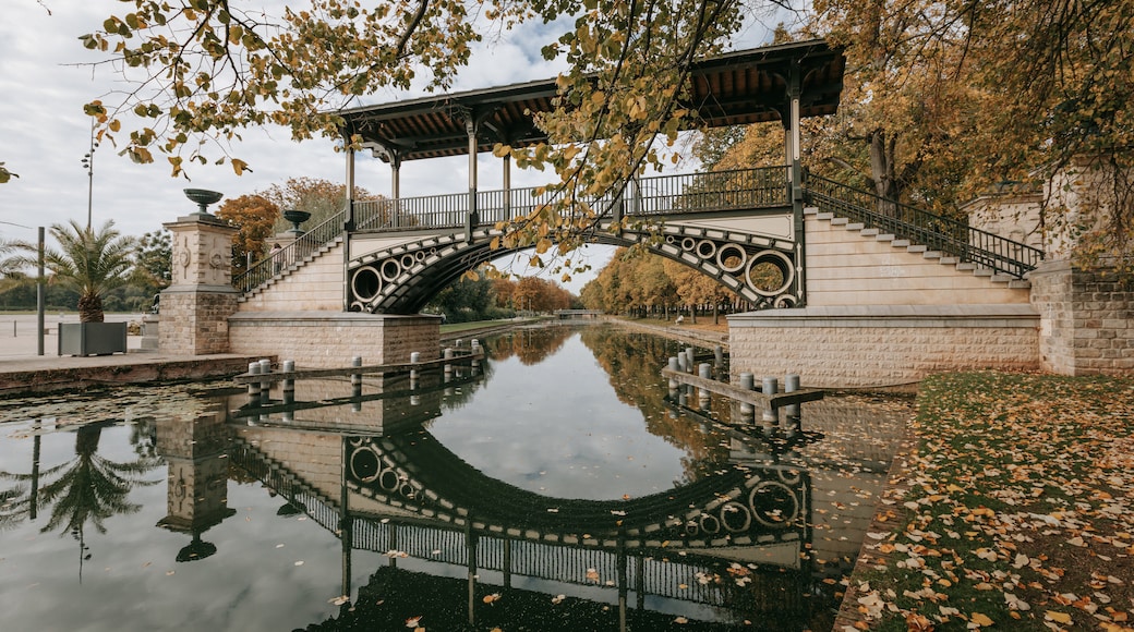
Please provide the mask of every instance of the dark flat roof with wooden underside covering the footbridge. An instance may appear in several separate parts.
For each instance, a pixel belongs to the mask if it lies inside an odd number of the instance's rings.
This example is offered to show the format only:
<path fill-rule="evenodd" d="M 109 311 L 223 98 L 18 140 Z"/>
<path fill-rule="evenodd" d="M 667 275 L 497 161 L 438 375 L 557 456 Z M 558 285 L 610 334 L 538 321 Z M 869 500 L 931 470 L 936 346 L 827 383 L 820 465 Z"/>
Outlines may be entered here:
<path fill-rule="evenodd" d="M 689 126 L 725 127 L 786 118 L 792 67 L 799 69 L 801 118 L 832 114 L 843 91 L 846 59 L 822 40 L 726 53 L 696 61 L 682 106 L 697 113 Z M 480 121 L 477 151 L 496 143 L 521 147 L 548 140 L 534 121 L 553 110 L 556 79 L 341 110 L 344 130 L 358 134 L 389 161 L 468 153 L 465 119 Z M 784 116 L 781 116 L 784 112 Z"/>

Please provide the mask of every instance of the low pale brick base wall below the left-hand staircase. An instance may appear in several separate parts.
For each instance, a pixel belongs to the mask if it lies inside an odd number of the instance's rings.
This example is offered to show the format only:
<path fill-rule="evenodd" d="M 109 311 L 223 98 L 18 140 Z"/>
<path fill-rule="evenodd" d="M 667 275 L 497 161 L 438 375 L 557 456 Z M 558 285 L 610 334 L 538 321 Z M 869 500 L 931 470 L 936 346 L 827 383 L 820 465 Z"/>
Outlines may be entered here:
<path fill-rule="evenodd" d="M 297 368 L 342 368 L 440 356 L 438 316 L 328 311 L 242 311 L 228 321 L 232 353 L 295 360 Z M 162 325 L 164 326 L 164 325 Z"/>

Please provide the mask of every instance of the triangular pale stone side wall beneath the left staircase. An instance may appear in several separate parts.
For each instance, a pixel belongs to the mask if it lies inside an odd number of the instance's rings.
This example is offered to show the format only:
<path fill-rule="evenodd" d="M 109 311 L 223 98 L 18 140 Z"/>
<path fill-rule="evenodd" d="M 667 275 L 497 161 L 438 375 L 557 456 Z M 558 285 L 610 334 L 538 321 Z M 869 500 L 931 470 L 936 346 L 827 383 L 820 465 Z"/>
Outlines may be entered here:
<path fill-rule="evenodd" d="M 342 245 L 319 255 L 240 304 L 240 311 L 342 311 Z"/>

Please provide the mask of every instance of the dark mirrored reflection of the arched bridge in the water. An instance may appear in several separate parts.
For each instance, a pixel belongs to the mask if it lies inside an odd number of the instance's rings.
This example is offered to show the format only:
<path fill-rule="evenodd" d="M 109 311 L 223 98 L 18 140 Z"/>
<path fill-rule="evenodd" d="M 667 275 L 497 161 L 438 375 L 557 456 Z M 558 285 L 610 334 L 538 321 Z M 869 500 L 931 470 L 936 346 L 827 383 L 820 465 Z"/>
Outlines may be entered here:
<path fill-rule="evenodd" d="M 636 339 L 634 355 L 648 359 L 632 362 L 599 351 L 626 336 L 615 332 L 522 331 L 486 341 L 492 359 L 476 370 L 366 376 L 355 386 L 299 381 L 288 404 L 281 390 L 251 403 L 234 394 L 192 424 L 161 424 L 158 447 L 170 468 L 161 526 L 192 533 L 187 556 L 211 555 L 202 533 L 232 513 L 218 472 L 235 466 L 238 478 L 261 481 L 284 501 L 281 514 L 303 512 L 340 541 L 340 612 L 312 630 L 392 630 L 417 615 L 432 630 L 829 625 L 860 536 L 829 530 L 850 523 L 846 515 L 815 512 L 816 497 L 829 506 L 839 486 L 831 481 L 844 475 L 816 471 L 816 460 L 801 455 L 824 434 L 845 441 L 831 432 L 839 422 L 809 410 L 838 404 L 805 404 L 803 432 L 788 436 L 747 422 L 721 398 L 667 401 L 658 367 L 671 343 Z M 558 498 L 483 473 L 442 445 L 435 422 L 485 388 L 497 364 L 509 356 L 538 364 L 577 344 L 568 341 L 576 335 L 648 425 L 665 421 L 677 433 L 668 442 L 711 452 L 693 459 L 699 473 L 635 497 Z M 881 460 L 869 462 L 853 467 L 881 478 Z M 853 540 L 847 556 L 843 540 Z M 383 562 L 352 586 L 363 577 L 353 569 L 359 560 Z"/>

